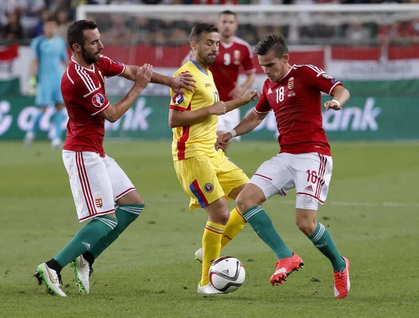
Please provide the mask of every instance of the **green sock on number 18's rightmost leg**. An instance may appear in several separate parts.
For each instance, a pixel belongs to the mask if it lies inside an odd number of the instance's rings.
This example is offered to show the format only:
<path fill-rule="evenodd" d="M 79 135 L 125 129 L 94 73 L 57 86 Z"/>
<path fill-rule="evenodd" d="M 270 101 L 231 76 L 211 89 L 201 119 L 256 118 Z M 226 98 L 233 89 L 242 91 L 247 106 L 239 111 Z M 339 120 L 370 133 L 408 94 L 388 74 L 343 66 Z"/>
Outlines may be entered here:
<path fill-rule="evenodd" d="M 332 238 L 330 238 L 328 229 L 326 229 L 323 224 L 317 222 L 316 230 L 314 230 L 314 233 L 311 234 L 311 236 L 308 236 L 308 238 L 314 246 L 330 260 L 334 270 L 338 272 L 345 268 L 345 261 L 342 259 L 341 254 L 339 254 Z"/>

